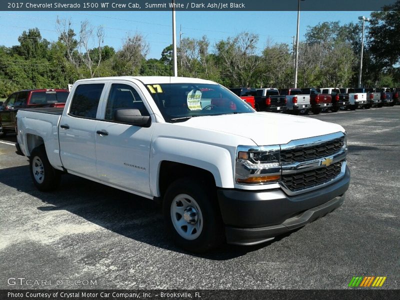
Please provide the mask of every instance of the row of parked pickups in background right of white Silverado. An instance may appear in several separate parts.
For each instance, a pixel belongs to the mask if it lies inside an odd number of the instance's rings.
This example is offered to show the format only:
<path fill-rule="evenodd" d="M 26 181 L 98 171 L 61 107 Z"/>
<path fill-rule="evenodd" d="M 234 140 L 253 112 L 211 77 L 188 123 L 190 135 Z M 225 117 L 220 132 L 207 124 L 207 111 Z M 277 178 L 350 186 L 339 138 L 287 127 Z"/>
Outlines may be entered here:
<path fill-rule="evenodd" d="M 399 104 L 400 88 L 230 88 L 257 111 L 318 114 L 321 111 Z"/>

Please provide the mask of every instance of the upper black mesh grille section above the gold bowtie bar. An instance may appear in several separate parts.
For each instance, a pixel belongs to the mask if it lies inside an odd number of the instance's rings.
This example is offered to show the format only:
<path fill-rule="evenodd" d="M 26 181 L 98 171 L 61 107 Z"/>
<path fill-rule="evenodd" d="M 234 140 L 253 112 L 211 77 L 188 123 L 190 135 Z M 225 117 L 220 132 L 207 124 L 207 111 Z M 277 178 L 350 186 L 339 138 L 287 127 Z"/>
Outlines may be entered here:
<path fill-rule="evenodd" d="M 280 151 L 280 162 L 290 164 L 294 162 L 303 162 L 318 159 L 335 154 L 340 151 L 344 143 L 344 137 L 338 137 L 316 145 L 304 145 Z"/>

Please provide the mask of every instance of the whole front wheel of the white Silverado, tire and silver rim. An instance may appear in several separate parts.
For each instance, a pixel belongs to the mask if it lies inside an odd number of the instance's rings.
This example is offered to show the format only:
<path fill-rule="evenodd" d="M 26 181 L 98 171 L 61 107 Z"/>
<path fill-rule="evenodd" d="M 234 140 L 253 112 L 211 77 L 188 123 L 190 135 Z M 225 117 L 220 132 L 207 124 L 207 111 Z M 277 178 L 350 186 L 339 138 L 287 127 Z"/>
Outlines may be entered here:
<path fill-rule="evenodd" d="M 173 241 L 191 252 L 205 252 L 224 242 L 216 193 L 198 178 L 177 179 L 162 203 L 166 227 Z"/>

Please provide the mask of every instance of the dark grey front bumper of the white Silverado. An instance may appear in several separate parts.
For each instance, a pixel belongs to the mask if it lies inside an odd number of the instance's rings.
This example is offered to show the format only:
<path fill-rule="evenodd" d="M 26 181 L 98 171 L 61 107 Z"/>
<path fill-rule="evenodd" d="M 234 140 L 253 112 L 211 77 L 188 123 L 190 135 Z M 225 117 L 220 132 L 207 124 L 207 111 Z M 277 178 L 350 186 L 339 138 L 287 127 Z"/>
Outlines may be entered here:
<path fill-rule="evenodd" d="M 304 226 L 339 207 L 350 184 L 350 171 L 325 187 L 288 196 L 281 189 L 217 191 L 226 241 L 251 245 Z"/>

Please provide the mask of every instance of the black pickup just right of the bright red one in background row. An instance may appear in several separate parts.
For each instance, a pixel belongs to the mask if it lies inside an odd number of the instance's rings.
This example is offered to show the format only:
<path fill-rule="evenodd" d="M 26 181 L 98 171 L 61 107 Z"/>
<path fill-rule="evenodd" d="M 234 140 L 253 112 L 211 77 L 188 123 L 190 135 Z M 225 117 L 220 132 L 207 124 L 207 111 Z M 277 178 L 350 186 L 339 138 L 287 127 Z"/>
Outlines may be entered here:
<path fill-rule="evenodd" d="M 285 112 L 286 97 L 279 95 L 277 88 L 256 88 L 254 107 L 257 111 Z"/>

